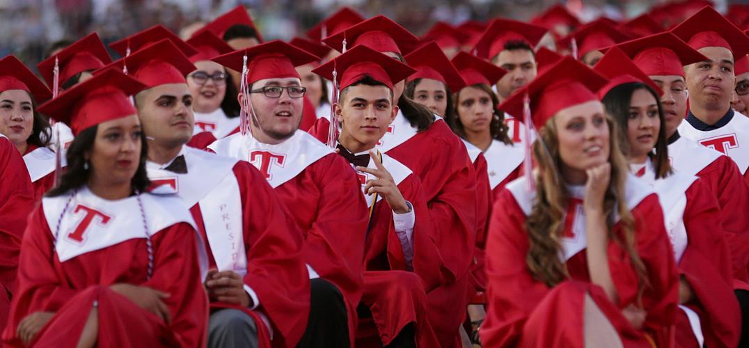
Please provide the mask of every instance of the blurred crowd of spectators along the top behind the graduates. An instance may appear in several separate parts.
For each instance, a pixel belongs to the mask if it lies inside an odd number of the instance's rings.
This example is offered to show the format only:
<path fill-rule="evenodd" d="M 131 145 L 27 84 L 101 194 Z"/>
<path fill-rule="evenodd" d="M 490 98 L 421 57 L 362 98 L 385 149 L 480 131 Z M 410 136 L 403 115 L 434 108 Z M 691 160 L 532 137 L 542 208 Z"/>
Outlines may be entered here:
<path fill-rule="evenodd" d="M 51 43 L 77 40 L 97 31 L 105 43 L 163 24 L 179 33 L 195 22 L 210 21 L 237 4 L 249 8 L 263 37 L 288 40 L 339 7 L 365 16 L 384 14 L 415 34 L 434 22 L 505 16 L 529 19 L 557 2 L 583 19 L 625 19 L 669 0 L 0 0 L 0 57 L 15 54 L 33 67 Z M 678 0 L 676 0 L 678 1 Z M 715 7 L 749 0 L 718 0 Z"/>

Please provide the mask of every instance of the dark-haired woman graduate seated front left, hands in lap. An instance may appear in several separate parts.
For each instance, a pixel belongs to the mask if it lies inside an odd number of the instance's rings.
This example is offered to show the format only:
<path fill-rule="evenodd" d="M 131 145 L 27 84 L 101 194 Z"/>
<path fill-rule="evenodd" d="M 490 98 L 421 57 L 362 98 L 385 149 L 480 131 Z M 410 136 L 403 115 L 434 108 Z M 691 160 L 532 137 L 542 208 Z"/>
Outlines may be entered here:
<path fill-rule="evenodd" d="M 204 344 L 204 246 L 178 198 L 144 192 L 145 136 L 128 97 L 142 88 L 108 70 L 39 107 L 76 138 L 29 218 L 4 344 Z"/>

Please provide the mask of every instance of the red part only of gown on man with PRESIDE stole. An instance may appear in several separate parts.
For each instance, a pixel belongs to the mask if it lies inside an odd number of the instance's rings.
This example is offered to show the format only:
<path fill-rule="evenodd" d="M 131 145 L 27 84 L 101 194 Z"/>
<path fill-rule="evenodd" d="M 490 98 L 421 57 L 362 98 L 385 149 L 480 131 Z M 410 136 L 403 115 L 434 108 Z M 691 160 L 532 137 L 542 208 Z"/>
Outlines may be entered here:
<path fill-rule="evenodd" d="M 258 311 L 270 319 L 273 347 L 295 347 L 309 317 L 309 276 L 301 252 L 302 233 L 295 228 L 282 202 L 255 167 L 249 162 L 237 162 L 234 176 L 239 183 L 245 226 L 247 275 L 244 283 L 257 293 L 261 305 Z M 207 243 L 200 204 L 190 208 L 190 213 Z M 210 266 L 215 268 L 210 248 L 207 252 Z M 223 303 L 212 303 L 211 308 L 240 309 L 256 317 L 248 308 Z"/>

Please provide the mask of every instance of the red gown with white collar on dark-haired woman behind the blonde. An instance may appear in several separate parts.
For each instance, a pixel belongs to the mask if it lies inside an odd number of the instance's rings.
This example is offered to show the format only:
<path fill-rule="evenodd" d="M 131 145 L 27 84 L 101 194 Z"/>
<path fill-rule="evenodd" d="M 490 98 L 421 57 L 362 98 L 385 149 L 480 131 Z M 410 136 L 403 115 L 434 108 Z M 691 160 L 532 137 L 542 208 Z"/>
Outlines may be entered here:
<path fill-rule="evenodd" d="M 724 231 L 714 223 L 720 219 L 718 200 L 698 177 L 674 173 L 656 180 L 652 162 L 631 165 L 640 167 L 640 180 L 658 193 L 679 272 L 694 290 L 695 300 L 679 305 L 677 346 L 736 347 L 741 311 Z"/>

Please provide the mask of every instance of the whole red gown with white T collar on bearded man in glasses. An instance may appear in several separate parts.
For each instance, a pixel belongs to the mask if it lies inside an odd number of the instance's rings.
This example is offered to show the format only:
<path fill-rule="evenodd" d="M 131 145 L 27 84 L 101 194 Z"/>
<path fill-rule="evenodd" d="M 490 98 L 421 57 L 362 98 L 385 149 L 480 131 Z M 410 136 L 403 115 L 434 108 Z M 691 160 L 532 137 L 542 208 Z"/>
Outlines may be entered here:
<path fill-rule="evenodd" d="M 237 133 L 208 148 L 250 162 L 263 173 L 303 231 L 310 278 L 324 278 L 341 291 L 353 344 L 368 216 L 351 165 L 301 130 L 276 145 Z"/>

